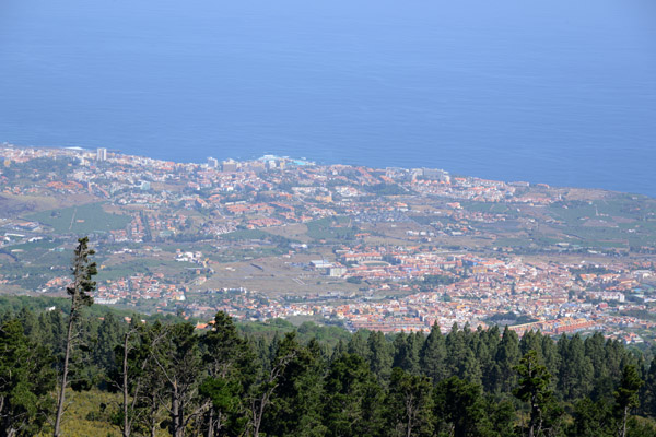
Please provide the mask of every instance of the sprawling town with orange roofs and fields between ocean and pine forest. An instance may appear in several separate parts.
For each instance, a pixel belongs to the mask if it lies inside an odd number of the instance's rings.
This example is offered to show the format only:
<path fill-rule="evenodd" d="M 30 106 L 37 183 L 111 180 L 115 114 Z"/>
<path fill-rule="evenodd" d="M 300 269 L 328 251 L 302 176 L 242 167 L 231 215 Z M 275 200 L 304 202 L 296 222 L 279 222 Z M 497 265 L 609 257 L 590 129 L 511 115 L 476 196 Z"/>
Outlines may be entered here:
<path fill-rule="evenodd" d="M 656 341 L 656 200 L 644 196 L 272 155 L 174 163 L 3 144 L 0 158 L 3 293 L 61 295 L 89 235 L 98 304 Z"/>

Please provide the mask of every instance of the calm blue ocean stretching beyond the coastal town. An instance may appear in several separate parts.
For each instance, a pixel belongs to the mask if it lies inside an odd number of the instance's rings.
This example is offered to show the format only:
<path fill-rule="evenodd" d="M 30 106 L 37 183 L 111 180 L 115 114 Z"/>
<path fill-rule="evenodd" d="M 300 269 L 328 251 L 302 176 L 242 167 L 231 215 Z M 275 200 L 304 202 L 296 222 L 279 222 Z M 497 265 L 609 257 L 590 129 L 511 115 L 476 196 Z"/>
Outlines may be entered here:
<path fill-rule="evenodd" d="M 653 0 L 2 0 L 0 142 L 656 197 Z"/>

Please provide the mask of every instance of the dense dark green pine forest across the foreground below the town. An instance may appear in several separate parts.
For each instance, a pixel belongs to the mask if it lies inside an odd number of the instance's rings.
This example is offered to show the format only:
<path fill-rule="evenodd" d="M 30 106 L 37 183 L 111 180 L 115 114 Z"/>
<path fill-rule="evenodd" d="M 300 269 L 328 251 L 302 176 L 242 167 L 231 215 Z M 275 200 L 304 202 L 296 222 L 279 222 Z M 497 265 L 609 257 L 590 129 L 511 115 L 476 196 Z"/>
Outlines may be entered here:
<path fill-rule="evenodd" d="M 0 356 L 0 377 L 7 369 L 30 377 L 20 402 L 0 402 L 0 414 L 33 417 L 23 435 L 45 424 L 31 414 L 51 406 L 67 343 L 66 312 L 34 308 L 1 316 L 0 346 L 10 352 Z M 166 428 L 212 437 L 655 435 L 656 366 L 598 334 L 557 343 L 466 324 L 447 335 L 434 326 L 429 335 L 386 336 L 313 323 L 295 330 L 284 320 L 242 329 L 223 312 L 199 332 L 173 319 L 98 316 L 74 318 L 69 382 L 125 394 L 106 413 L 95 406 L 93 417 L 112 416 L 126 437 Z M 0 395 L 12 394 L 0 387 Z M 10 405 L 23 412 L 7 415 Z"/>

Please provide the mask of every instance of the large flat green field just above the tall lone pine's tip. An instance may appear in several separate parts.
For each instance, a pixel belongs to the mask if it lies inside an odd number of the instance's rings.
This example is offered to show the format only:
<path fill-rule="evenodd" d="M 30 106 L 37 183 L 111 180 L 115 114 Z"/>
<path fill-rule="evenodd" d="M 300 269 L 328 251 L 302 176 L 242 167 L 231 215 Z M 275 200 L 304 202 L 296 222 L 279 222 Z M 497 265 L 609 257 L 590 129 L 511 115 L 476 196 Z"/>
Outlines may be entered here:
<path fill-rule="evenodd" d="M 44 211 L 23 218 L 51 227 L 56 234 L 78 235 L 122 229 L 131 220 L 129 215 L 105 212 L 102 203 Z"/>

